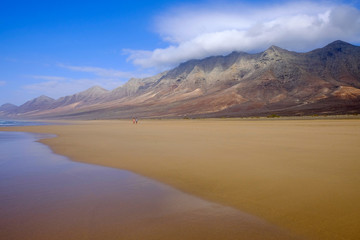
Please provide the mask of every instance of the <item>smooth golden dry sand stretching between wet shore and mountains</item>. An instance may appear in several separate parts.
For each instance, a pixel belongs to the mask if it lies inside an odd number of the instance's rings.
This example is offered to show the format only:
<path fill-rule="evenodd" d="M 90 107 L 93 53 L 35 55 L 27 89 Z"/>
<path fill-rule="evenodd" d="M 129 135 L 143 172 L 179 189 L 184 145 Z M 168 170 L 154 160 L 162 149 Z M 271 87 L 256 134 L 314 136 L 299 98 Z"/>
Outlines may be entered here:
<path fill-rule="evenodd" d="M 311 239 L 360 238 L 360 120 L 87 121 L 2 128 L 133 171 Z"/>

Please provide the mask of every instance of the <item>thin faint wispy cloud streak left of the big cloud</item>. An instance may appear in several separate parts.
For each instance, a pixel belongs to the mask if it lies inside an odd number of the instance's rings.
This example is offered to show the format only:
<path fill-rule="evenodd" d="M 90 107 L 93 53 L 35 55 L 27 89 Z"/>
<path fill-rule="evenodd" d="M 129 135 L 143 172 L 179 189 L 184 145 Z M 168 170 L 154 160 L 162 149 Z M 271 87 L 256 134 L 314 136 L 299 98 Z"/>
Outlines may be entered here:
<path fill-rule="evenodd" d="M 122 72 L 122 71 L 118 71 L 118 70 L 114 70 L 114 69 L 89 67 L 89 66 L 70 66 L 70 65 L 64 65 L 64 64 L 58 64 L 58 66 L 72 70 L 72 71 L 93 73 L 93 74 L 95 74 L 97 76 L 101 76 L 101 77 L 117 77 L 117 78 L 133 77 L 132 73 Z"/>

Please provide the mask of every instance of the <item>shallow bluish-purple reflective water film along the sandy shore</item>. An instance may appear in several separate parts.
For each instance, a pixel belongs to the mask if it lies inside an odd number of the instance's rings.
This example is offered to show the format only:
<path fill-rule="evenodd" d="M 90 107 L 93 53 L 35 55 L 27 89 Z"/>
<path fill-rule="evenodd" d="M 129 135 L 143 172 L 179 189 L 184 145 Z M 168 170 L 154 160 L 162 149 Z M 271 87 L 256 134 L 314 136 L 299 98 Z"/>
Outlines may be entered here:
<path fill-rule="evenodd" d="M 129 171 L 70 161 L 0 130 L 0 239 L 297 239 Z"/>

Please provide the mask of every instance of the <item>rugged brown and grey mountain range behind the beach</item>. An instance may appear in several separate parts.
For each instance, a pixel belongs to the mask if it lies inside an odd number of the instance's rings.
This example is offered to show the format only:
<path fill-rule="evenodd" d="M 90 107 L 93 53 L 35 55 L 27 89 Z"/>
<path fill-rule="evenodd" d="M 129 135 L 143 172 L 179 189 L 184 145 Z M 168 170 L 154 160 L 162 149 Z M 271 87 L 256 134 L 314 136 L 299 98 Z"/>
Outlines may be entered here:
<path fill-rule="evenodd" d="M 108 91 L 4 104 L 6 118 L 112 119 L 360 113 L 360 47 L 343 41 L 306 53 L 271 46 L 190 60 Z"/>

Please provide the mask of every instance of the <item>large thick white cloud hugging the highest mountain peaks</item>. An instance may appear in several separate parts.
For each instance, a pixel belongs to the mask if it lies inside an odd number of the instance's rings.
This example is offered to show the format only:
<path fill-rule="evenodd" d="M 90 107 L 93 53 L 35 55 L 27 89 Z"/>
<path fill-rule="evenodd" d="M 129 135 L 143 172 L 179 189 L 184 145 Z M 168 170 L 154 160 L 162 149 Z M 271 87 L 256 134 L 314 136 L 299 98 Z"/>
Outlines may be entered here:
<path fill-rule="evenodd" d="M 185 6 L 158 16 L 156 29 L 169 43 L 152 51 L 126 50 L 129 61 L 164 69 L 180 62 L 227 54 L 259 52 L 271 45 L 308 51 L 334 40 L 360 42 L 360 11 L 329 2 L 282 5 Z"/>

